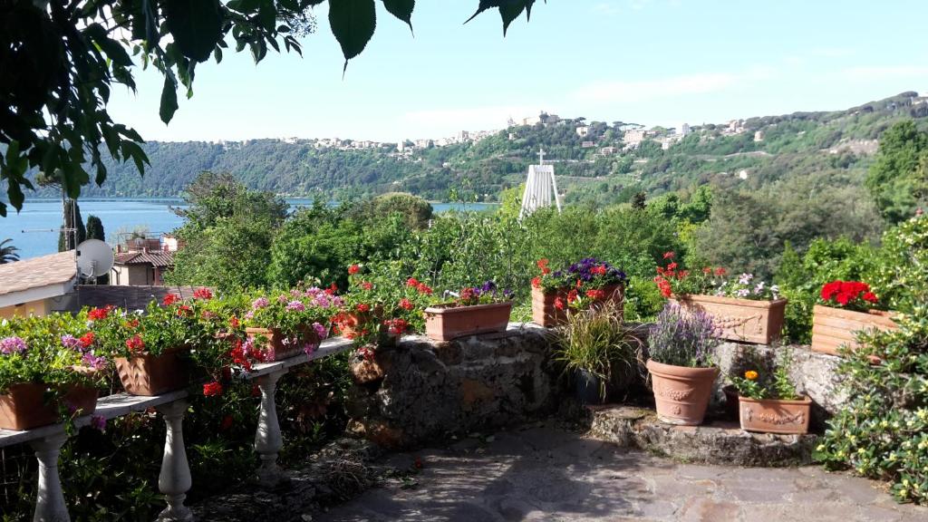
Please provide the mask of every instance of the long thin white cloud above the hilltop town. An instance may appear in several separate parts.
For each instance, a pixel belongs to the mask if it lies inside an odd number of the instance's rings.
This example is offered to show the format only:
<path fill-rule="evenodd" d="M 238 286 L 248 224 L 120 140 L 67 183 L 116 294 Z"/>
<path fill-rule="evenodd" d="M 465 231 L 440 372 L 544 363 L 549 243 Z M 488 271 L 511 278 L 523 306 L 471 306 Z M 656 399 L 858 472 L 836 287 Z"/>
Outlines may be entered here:
<path fill-rule="evenodd" d="M 745 82 L 776 75 L 771 67 L 758 66 L 745 72 L 707 72 L 671 76 L 657 80 L 599 81 L 581 86 L 573 98 L 598 102 L 634 102 L 725 91 Z"/>

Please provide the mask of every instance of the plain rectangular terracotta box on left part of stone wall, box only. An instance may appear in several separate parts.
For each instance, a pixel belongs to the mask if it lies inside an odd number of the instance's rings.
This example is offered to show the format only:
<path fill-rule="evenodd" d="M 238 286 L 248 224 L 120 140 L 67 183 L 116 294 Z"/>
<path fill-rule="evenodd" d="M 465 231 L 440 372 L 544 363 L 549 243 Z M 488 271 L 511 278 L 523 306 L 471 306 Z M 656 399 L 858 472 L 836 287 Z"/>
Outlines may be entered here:
<path fill-rule="evenodd" d="M 438 305 L 425 309 L 425 333 L 433 341 L 450 341 L 478 333 L 505 332 L 512 303 L 473 307 Z"/>

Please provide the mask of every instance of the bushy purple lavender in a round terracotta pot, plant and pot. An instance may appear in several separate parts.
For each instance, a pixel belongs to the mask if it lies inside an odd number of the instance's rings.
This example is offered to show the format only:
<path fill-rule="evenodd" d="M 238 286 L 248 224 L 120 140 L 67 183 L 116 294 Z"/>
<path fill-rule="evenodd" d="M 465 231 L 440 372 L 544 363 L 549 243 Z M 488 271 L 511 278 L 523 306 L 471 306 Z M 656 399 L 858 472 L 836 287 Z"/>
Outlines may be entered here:
<path fill-rule="evenodd" d="M 702 423 L 718 368 L 718 329 L 708 314 L 668 303 L 648 334 L 648 371 L 657 416 L 668 424 Z"/>

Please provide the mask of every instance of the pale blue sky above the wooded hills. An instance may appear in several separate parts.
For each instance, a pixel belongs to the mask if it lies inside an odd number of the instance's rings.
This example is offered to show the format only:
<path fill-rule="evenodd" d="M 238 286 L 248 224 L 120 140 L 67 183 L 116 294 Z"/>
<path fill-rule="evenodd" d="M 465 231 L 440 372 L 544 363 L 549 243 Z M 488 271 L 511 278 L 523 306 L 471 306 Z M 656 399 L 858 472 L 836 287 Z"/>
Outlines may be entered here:
<path fill-rule="evenodd" d="M 200 64 L 193 98 L 161 123 L 161 76 L 136 72 L 110 114 L 148 140 L 341 137 L 395 142 L 504 128 L 540 111 L 678 126 L 832 111 L 928 91 L 924 0 L 548 0 L 504 38 L 477 0 L 419 0 L 415 36 L 378 2 L 348 64 L 323 4 L 303 58 Z"/>

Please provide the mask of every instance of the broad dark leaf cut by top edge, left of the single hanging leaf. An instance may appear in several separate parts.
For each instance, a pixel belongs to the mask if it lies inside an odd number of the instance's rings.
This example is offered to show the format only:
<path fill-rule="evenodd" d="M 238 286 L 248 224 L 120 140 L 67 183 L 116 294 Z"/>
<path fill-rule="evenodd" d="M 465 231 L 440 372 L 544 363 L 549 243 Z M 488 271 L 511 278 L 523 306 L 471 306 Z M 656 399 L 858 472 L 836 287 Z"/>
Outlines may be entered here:
<path fill-rule="evenodd" d="M 174 44 L 188 59 L 206 61 L 221 38 L 219 0 L 167 0 L 165 15 Z"/>

